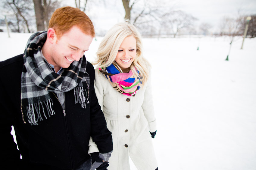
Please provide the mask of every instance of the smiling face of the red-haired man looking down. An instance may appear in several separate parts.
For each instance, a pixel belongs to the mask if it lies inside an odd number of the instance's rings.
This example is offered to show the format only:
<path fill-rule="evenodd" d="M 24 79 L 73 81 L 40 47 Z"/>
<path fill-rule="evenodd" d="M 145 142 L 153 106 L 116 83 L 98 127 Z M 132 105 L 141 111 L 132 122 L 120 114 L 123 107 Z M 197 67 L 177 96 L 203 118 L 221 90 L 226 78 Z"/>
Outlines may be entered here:
<path fill-rule="evenodd" d="M 85 34 L 80 28 L 73 26 L 59 39 L 54 37 L 51 55 L 47 61 L 54 65 L 55 70 L 60 67 L 67 68 L 74 60 L 79 61 L 83 57 L 84 52 L 89 49 L 92 39 L 91 35 Z"/>

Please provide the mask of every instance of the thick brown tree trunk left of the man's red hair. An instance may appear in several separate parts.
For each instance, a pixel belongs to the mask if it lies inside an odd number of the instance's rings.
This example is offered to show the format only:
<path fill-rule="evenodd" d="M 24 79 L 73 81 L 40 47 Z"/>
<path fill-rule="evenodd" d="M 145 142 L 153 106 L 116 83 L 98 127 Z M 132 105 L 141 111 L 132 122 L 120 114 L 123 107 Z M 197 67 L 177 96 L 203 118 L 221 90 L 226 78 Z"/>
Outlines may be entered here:
<path fill-rule="evenodd" d="M 42 0 L 33 0 L 36 14 L 36 28 L 37 31 L 45 30 L 44 24 L 44 9 L 42 6 Z"/>

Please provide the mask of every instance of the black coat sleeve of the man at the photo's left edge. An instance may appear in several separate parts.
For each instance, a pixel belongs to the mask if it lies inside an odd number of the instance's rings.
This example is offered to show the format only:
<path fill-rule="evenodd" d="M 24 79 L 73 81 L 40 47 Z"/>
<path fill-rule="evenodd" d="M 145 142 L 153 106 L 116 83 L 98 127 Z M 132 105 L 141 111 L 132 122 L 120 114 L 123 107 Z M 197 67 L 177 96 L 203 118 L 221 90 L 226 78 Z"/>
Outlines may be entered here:
<path fill-rule="evenodd" d="M 12 59 L 0 62 L 0 134 L 1 134 L 1 168 L 10 166 L 14 169 L 21 167 L 22 160 L 20 159 L 20 151 L 14 142 L 14 137 L 11 135 L 11 126 L 15 125 L 15 106 L 13 106 L 16 95 L 13 89 L 15 84 L 18 84 L 17 66 L 12 63 Z M 15 68 L 15 69 L 14 69 Z M 18 67 L 19 68 L 19 67 Z M 11 70 L 12 69 L 12 70 Z M 11 74 L 14 71 L 14 74 Z M 12 76 L 11 76 L 12 75 Z M 14 83 L 12 83 L 14 81 Z M 5 169 L 5 168 L 3 168 Z"/>

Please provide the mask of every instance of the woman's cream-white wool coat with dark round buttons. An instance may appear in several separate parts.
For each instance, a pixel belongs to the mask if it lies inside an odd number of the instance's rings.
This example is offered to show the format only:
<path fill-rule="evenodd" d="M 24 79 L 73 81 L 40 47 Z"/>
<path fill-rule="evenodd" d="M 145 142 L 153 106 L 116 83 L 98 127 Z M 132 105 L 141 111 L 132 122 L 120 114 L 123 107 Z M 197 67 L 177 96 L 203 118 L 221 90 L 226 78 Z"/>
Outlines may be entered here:
<path fill-rule="evenodd" d="M 157 168 L 149 133 L 156 131 L 150 81 L 151 76 L 130 97 L 118 93 L 102 73 L 95 71 L 95 93 L 113 138 L 109 170 L 130 170 L 129 156 L 138 170 Z"/>

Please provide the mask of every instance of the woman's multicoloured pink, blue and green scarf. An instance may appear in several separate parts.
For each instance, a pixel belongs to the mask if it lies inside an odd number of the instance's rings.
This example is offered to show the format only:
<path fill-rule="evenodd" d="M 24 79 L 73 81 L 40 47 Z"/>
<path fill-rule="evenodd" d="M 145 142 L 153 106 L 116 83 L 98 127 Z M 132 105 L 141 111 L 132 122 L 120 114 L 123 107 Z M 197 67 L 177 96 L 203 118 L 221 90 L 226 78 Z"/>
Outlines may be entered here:
<path fill-rule="evenodd" d="M 139 75 L 139 71 L 136 69 L 138 75 L 134 75 L 132 70 L 129 73 L 122 73 L 120 67 L 113 62 L 108 66 L 105 71 L 104 68 L 99 68 L 99 71 L 105 75 L 112 87 L 119 93 L 133 96 L 140 89 L 142 84 L 142 78 Z"/>

